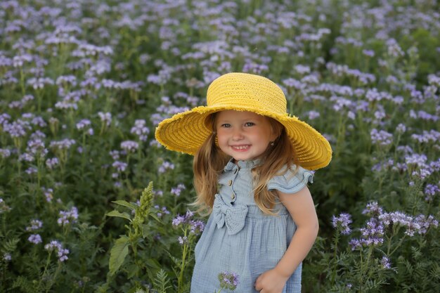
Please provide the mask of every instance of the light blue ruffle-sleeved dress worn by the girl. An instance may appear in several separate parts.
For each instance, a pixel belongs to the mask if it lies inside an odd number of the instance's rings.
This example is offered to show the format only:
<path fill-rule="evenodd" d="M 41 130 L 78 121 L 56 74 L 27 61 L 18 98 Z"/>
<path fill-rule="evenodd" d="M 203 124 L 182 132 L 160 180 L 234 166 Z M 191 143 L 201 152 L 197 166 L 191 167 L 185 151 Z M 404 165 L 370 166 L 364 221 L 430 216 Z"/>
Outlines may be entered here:
<path fill-rule="evenodd" d="M 285 254 L 296 225 L 283 204 L 277 204 L 277 216 L 270 216 L 254 202 L 251 170 L 257 162 L 230 161 L 219 176 L 212 214 L 195 246 L 191 293 L 218 291 L 218 275 L 225 271 L 238 275 L 235 293 L 257 293 L 255 280 Z M 299 167 L 297 172 L 287 170 L 273 177 L 267 185 L 268 190 L 297 193 L 312 179 L 310 171 Z M 287 280 L 283 293 L 301 292 L 301 271 L 302 264 Z"/>

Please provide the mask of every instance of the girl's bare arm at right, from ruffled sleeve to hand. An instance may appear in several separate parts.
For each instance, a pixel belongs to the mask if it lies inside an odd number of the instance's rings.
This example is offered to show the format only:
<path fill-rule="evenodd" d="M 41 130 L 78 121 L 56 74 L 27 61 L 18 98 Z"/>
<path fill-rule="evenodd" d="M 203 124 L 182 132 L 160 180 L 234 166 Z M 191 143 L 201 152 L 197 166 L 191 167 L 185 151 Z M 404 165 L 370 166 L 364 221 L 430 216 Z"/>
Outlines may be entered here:
<path fill-rule="evenodd" d="M 283 292 L 285 282 L 295 272 L 299 263 L 306 258 L 318 235 L 318 216 L 309 188 L 304 187 L 295 194 L 277 191 L 280 201 L 295 221 L 297 230 L 276 267 L 257 278 L 255 289 L 261 293 Z"/>

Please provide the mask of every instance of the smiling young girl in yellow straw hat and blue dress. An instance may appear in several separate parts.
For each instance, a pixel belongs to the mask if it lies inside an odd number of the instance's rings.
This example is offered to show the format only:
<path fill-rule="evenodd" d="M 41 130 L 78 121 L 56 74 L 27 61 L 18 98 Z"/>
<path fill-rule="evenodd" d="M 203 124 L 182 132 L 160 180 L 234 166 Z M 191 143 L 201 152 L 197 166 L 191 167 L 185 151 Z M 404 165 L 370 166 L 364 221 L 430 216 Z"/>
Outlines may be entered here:
<path fill-rule="evenodd" d="M 216 292 L 225 271 L 238 275 L 238 293 L 301 292 L 302 261 L 318 233 L 306 169 L 327 166 L 332 150 L 286 107 L 269 79 L 229 73 L 209 86 L 207 106 L 157 127 L 162 145 L 195 156 L 195 203 L 211 213 L 191 293 Z"/>

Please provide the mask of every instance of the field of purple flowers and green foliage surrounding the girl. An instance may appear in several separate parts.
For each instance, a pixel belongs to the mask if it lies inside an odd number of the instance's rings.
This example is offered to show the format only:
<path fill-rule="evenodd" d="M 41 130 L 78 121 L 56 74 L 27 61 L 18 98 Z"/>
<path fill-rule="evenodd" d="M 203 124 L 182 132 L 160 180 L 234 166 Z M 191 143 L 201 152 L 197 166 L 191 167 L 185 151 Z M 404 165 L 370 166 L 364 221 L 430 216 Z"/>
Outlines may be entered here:
<path fill-rule="evenodd" d="M 0 292 L 189 292 L 206 217 L 155 126 L 227 72 L 332 145 L 303 292 L 440 292 L 436 0 L 0 2 Z M 219 272 L 232 292 L 236 272 Z M 240 292 L 237 292 L 240 293 Z"/>

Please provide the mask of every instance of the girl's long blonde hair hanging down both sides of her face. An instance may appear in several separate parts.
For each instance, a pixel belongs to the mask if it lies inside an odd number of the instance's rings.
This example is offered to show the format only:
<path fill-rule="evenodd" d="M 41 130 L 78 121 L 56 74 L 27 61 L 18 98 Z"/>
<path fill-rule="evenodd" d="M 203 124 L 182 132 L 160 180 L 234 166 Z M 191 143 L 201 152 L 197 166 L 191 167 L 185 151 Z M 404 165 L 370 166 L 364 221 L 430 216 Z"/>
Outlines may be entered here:
<path fill-rule="evenodd" d="M 283 171 L 297 165 L 295 150 L 285 128 L 280 122 L 266 117 L 271 124 L 276 140 L 268 145 L 266 151 L 261 155 L 264 164 L 259 164 L 252 169 L 254 200 L 257 206 L 265 214 L 275 214 L 274 207 L 277 202 L 276 192 L 267 190 L 267 183 L 273 177 L 281 175 Z M 198 211 L 212 211 L 214 195 L 218 193 L 218 176 L 225 165 L 231 159 L 216 145 L 216 113 L 207 118 L 207 124 L 212 126 L 210 134 L 194 156 L 194 187 L 197 198 L 194 205 L 199 207 Z"/>

